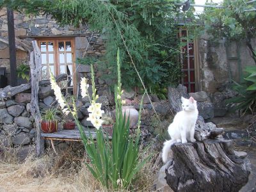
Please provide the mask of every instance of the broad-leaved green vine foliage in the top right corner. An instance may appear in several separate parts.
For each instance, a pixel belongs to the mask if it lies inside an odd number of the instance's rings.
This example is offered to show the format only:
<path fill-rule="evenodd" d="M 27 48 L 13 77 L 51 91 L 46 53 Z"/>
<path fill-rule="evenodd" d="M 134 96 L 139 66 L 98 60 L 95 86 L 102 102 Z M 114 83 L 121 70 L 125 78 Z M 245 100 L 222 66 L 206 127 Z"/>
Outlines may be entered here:
<path fill-rule="evenodd" d="M 245 2 L 244 0 L 223 0 L 221 6 L 224 8 L 205 8 L 205 12 L 195 20 L 196 28 L 194 25 L 190 31 L 198 35 L 207 32 L 214 41 L 223 38 L 245 40 L 256 62 L 256 54 L 251 42 L 251 39 L 256 36 L 256 12 L 245 12 L 254 9 L 256 2 L 248 4 Z"/>

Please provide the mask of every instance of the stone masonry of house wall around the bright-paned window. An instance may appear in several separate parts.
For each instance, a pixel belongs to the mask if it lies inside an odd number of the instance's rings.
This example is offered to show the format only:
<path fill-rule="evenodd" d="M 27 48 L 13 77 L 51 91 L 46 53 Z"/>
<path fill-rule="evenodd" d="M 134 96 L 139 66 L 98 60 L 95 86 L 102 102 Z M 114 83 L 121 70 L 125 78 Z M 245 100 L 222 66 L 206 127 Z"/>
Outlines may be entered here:
<path fill-rule="evenodd" d="M 81 28 L 74 28 L 74 26 L 60 27 L 50 16 L 28 17 L 17 12 L 14 13 L 14 24 L 17 45 L 20 45 L 19 41 L 21 41 L 22 44 L 32 47 L 31 41 L 35 40 L 35 38 L 60 38 L 66 36 L 75 39 L 76 58 L 82 58 L 83 56 L 95 56 L 99 58 L 106 52 L 103 37 L 99 33 L 90 31 L 88 26 Z M 0 33 L 1 38 L 8 40 L 6 9 L 0 10 Z M 29 63 L 29 52 L 17 49 L 16 54 L 17 66 L 21 63 Z M 3 42 L 0 42 L 0 67 L 6 67 L 6 76 L 8 77 L 9 83 L 10 55 L 8 45 Z M 77 74 L 77 78 L 83 76 L 88 77 L 88 67 L 79 67 L 79 65 L 76 67 L 77 73 L 79 73 Z M 107 86 L 104 85 L 104 81 L 100 81 L 100 79 L 98 81 L 99 75 L 100 73 L 98 73 L 96 77 L 97 86 L 100 87 L 101 90 L 104 90 Z"/>

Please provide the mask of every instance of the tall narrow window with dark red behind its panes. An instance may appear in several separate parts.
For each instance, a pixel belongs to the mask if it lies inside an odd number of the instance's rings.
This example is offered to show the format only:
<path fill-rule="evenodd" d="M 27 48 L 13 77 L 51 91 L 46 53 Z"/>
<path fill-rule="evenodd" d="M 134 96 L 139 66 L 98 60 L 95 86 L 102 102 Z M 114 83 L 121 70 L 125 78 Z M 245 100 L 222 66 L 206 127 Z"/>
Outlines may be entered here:
<path fill-rule="evenodd" d="M 186 29 L 180 29 L 179 37 L 181 41 L 185 43 L 184 47 L 182 47 L 182 53 L 180 54 L 180 60 L 183 65 L 182 72 L 184 74 L 181 82 L 188 88 L 188 93 L 193 93 L 196 92 L 196 78 L 198 78 L 198 72 L 196 71 L 196 64 L 198 62 L 195 52 L 195 41 L 188 41 L 188 30 Z"/>

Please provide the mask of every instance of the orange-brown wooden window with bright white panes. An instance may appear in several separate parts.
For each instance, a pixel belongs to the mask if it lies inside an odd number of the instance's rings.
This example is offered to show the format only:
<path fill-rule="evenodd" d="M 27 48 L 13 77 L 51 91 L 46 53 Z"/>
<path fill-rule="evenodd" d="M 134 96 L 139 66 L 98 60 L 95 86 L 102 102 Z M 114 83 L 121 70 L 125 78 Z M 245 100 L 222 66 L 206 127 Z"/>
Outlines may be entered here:
<path fill-rule="evenodd" d="M 54 76 L 67 74 L 67 81 L 60 83 L 64 94 L 74 95 L 76 92 L 75 82 L 75 51 L 72 38 L 40 39 L 38 45 L 42 58 L 42 80 L 49 79 L 49 72 Z"/>

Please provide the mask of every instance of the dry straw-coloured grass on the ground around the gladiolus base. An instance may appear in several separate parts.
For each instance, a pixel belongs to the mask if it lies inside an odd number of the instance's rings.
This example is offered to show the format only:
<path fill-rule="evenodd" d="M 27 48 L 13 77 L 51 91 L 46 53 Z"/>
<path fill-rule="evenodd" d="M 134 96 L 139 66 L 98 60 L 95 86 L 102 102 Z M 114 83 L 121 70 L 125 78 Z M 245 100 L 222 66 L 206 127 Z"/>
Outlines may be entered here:
<path fill-rule="evenodd" d="M 83 163 L 81 154 L 66 150 L 60 156 L 51 152 L 36 158 L 30 154 L 20 163 L 13 150 L 0 157 L 0 191 L 107 191 Z M 132 191 L 150 191 L 154 180 L 152 163 L 140 172 Z M 111 191 L 111 190 L 109 190 Z"/>

